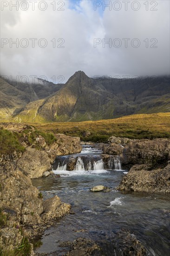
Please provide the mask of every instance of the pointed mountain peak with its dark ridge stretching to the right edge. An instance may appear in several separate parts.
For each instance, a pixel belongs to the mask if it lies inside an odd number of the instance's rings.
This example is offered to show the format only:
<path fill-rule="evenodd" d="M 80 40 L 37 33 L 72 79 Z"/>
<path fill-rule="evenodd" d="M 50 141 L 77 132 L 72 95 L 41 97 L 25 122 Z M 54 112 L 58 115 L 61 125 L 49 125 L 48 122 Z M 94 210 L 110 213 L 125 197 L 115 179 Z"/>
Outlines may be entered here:
<path fill-rule="evenodd" d="M 103 80 L 78 71 L 56 93 L 27 104 L 21 114 L 33 112 L 46 121 L 86 121 L 169 112 L 169 85 L 167 76 Z"/>

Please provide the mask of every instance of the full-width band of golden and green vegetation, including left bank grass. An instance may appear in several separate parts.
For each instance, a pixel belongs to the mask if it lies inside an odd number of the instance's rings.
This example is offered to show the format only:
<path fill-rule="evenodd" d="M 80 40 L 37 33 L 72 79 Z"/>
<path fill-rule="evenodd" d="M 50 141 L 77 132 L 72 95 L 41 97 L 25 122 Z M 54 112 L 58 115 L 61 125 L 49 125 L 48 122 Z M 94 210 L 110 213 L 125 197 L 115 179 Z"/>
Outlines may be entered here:
<path fill-rule="evenodd" d="M 170 113 L 129 115 L 117 119 L 62 123 L 29 123 L 21 132 L 0 128 L 0 154 L 24 152 L 27 145 L 40 149 L 36 138 L 41 135 L 48 146 L 56 141 L 54 134 L 78 136 L 82 141 L 107 142 L 111 136 L 130 139 L 170 138 Z M 33 128 L 34 126 L 34 128 Z"/>

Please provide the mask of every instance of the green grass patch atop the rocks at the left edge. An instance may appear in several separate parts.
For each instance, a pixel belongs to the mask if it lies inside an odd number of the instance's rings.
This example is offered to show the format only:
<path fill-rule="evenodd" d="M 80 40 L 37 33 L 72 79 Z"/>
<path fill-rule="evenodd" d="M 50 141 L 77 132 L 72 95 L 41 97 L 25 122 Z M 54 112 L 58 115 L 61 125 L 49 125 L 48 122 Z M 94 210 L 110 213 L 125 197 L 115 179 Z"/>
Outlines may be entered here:
<path fill-rule="evenodd" d="M 24 152 L 19 137 L 6 129 L 0 128 L 0 155 L 12 155 L 14 151 Z"/>

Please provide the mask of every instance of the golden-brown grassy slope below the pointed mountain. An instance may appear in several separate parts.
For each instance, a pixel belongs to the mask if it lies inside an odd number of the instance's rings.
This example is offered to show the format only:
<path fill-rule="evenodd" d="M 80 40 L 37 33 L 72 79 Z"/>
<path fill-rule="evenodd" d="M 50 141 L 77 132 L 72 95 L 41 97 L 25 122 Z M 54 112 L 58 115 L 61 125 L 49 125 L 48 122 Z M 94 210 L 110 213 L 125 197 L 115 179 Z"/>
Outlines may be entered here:
<path fill-rule="evenodd" d="M 129 115 L 112 120 L 32 125 L 46 132 L 80 136 L 84 141 L 106 141 L 112 135 L 136 139 L 170 137 L 170 113 Z M 91 135 L 84 137 L 84 131 L 89 131 Z"/>

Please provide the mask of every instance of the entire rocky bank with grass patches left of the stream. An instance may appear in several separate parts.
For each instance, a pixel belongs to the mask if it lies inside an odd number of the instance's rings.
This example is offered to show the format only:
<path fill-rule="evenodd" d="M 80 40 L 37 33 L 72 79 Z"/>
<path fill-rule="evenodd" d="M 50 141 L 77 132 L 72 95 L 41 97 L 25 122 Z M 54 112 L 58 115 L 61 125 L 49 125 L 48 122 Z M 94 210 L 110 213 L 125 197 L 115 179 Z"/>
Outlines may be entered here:
<path fill-rule="evenodd" d="M 46 137 L 33 127 L 13 123 L 1 127 L 12 132 L 9 135 L 17 146 L 20 142 L 22 152 L 11 149 L 11 154 L 7 151 L 0 155 L 0 251 L 3 255 L 34 255 L 30 241 L 68 214 L 71 205 L 58 196 L 44 201 L 30 178 L 42 177 L 51 170 L 57 155 L 80 152 L 80 139 L 57 134 L 48 145 Z M 6 148 L 2 145 L 2 152 Z"/>

